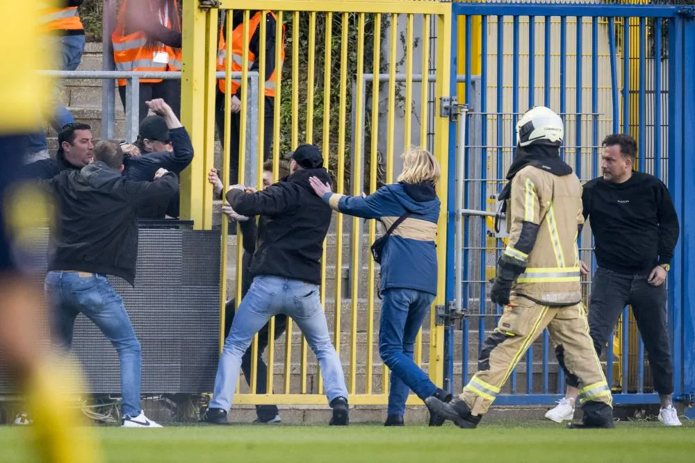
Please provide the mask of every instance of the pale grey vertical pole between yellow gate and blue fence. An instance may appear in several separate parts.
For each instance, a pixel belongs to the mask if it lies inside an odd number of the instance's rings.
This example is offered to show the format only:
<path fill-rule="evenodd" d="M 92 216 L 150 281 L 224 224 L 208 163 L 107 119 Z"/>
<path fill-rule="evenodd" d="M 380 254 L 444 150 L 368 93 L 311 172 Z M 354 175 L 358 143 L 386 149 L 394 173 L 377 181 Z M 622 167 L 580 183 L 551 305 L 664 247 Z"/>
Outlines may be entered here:
<path fill-rule="evenodd" d="M 458 125 L 457 148 L 456 148 L 456 210 L 464 207 L 464 189 L 466 183 L 464 179 L 464 169 L 466 167 L 466 112 L 468 108 L 459 107 L 461 118 Z M 454 289 L 454 308 L 457 311 L 463 310 L 463 253 L 464 253 L 464 223 L 461 214 L 456 214 L 455 218 L 455 237 L 454 246 L 455 258 L 455 289 Z"/>

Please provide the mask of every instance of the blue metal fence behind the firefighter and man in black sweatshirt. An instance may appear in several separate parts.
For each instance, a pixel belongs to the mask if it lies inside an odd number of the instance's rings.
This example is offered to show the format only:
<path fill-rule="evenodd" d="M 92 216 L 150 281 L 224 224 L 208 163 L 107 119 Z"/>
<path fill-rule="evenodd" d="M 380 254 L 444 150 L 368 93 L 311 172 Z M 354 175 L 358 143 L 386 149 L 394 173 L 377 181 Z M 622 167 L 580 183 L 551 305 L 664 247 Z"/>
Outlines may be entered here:
<path fill-rule="evenodd" d="M 450 128 L 450 163 L 455 165 L 457 143 L 465 143 L 464 209 L 493 210 L 514 156 L 514 126 L 518 116 L 543 104 L 560 113 L 566 137 L 561 154 L 582 180 L 598 174 L 599 143 L 609 133 L 631 133 L 638 142 L 640 171 L 662 178 L 669 186 L 682 224 L 681 238 L 669 274 L 669 330 L 671 332 L 676 396 L 692 399 L 695 391 L 695 307 L 690 271 L 695 263 L 689 249 L 695 244 L 695 144 L 687 131 L 695 130 L 695 19 L 692 7 L 575 4 L 453 3 L 453 31 L 466 24 L 465 73 L 472 73 L 473 44 L 480 44 L 480 85 L 466 83 L 459 101 L 469 106 L 466 140 Z M 472 27 L 480 15 L 480 28 Z M 480 37 L 474 37 L 480 33 Z M 509 37 L 512 35 L 512 37 Z M 667 40 L 663 40 L 667 35 Z M 631 50 L 632 47 L 632 50 Z M 457 37 L 452 42 L 452 76 L 457 69 Z M 452 78 L 452 83 L 455 83 Z M 452 84 L 452 94 L 456 94 Z M 687 161 L 687 162 L 686 162 Z M 451 169 L 450 194 L 455 176 Z M 453 197 L 453 196 L 450 196 Z M 449 201 L 450 224 L 460 211 Z M 475 373 L 482 342 L 499 319 L 500 307 L 489 302 L 486 280 L 494 273 L 501 239 L 492 236 L 485 217 L 464 217 L 463 259 L 448 258 L 448 299 L 454 285 L 463 285 L 468 317 L 460 330 L 447 331 L 448 365 L 445 384 L 460 392 Z M 449 242 L 455 244 L 453 226 Z M 580 237 L 580 258 L 595 267 L 589 228 Z M 461 265 L 463 281 L 455 281 Z M 584 282 L 584 294 L 589 281 Z M 628 308 L 622 326 L 628 327 Z M 636 351 L 636 352 L 635 352 Z M 630 346 L 623 332 L 616 362 L 614 346 L 605 358 L 607 380 L 615 403 L 656 403 L 651 377 L 645 373 L 641 339 Z M 628 364 L 636 354 L 636 374 Z M 618 367 L 619 364 L 619 368 Z M 614 367 L 616 367 L 614 371 Z M 519 362 L 498 405 L 550 404 L 564 394 L 564 376 L 557 367 L 548 332 Z M 691 394 L 691 395 L 689 395 Z"/>

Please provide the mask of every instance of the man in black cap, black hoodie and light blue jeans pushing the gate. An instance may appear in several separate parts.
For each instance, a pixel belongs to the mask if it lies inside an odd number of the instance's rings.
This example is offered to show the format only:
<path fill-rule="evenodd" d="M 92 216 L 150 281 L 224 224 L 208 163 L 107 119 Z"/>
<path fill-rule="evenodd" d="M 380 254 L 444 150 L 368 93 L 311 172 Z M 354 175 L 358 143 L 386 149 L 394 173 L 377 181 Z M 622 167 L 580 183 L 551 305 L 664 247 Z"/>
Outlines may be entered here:
<path fill-rule="evenodd" d="M 330 176 L 313 145 L 297 147 L 290 170 L 290 176 L 261 192 L 247 192 L 243 185 L 227 191 L 227 202 L 234 211 L 261 217 L 250 266 L 254 280 L 222 349 L 213 400 L 202 418 L 208 423 L 227 422 L 246 349 L 270 317 L 286 314 L 299 325 L 320 363 L 326 396 L 333 408 L 330 424 L 347 425 L 343 368 L 331 344 L 318 288 L 323 242 L 332 212 L 309 185 L 312 176 L 323 182 L 329 182 Z"/>

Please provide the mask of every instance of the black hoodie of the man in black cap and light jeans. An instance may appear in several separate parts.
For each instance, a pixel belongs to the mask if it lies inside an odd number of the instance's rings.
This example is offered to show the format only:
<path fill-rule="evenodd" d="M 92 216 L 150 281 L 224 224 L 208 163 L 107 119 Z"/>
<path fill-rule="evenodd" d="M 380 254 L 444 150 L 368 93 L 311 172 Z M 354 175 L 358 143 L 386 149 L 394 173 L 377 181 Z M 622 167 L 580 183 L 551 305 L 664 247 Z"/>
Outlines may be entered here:
<path fill-rule="evenodd" d="M 252 277 L 281 276 L 320 285 L 323 241 L 332 212 L 311 189 L 311 176 L 331 181 L 326 169 L 302 169 L 260 192 L 227 192 L 236 212 L 261 216 Z"/>

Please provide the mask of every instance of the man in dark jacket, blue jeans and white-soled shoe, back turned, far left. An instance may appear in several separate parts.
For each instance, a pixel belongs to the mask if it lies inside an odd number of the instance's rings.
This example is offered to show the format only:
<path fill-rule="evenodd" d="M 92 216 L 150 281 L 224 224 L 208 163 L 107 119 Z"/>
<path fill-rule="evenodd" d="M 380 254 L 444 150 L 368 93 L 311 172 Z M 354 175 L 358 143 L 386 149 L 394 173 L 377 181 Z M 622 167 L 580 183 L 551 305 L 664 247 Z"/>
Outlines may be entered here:
<path fill-rule="evenodd" d="M 177 179 L 164 169 L 153 182 L 124 178 L 123 152 L 106 140 L 95 147 L 95 162 L 80 171 L 62 171 L 44 186 L 58 201 L 58 223 L 51 227 L 46 296 L 52 310 L 54 346 L 69 350 L 75 317 L 85 314 L 116 348 L 121 366 L 121 425 L 156 428 L 140 408 L 142 353 L 133 326 L 107 275 L 133 285 L 138 255 L 136 210 L 165 203 Z"/>

